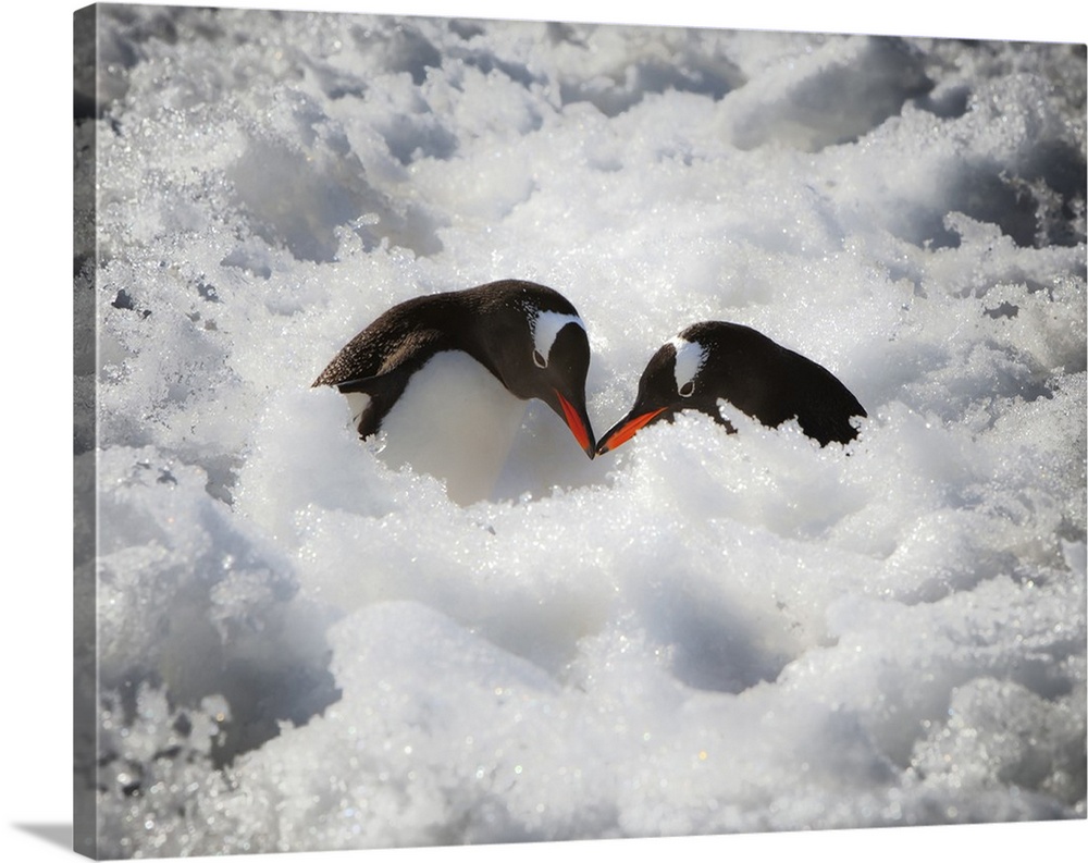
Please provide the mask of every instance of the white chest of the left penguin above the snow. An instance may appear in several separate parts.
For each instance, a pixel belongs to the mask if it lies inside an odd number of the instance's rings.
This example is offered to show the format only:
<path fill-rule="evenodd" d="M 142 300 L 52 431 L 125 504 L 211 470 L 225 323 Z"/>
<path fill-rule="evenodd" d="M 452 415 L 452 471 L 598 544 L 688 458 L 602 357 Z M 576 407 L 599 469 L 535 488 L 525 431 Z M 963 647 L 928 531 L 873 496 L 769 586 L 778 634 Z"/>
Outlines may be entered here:
<path fill-rule="evenodd" d="M 368 398 L 363 396 L 363 399 Z M 362 399 L 351 404 L 357 416 Z M 490 497 L 514 447 L 528 403 L 468 354 L 437 354 L 408 382 L 382 420 L 379 457 L 446 483 L 452 501 Z"/>

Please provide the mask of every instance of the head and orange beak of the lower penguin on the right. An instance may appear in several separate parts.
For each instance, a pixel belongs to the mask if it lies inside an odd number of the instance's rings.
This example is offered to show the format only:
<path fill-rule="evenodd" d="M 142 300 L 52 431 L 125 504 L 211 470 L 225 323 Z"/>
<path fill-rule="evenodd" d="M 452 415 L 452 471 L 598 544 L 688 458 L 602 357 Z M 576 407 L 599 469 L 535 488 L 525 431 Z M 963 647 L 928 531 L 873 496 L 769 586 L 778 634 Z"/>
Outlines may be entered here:
<path fill-rule="evenodd" d="M 644 426 L 663 419 L 671 421 L 680 410 L 694 408 L 718 416 L 717 394 L 705 387 L 702 380 L 708 355 L 706 346 L 682 335 L 662 345 L 639 379 L 634 406 L 605 432 L 597 444 L 597 455 L 631 440 Z"/>

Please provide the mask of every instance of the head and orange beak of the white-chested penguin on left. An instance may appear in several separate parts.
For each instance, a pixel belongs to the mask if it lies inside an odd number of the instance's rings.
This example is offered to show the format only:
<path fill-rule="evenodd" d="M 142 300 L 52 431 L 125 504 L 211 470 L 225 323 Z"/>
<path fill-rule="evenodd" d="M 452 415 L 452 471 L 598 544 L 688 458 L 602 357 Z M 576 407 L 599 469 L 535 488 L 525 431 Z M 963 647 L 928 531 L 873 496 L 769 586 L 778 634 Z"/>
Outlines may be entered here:
<path fill-rule="evenodd" d="M 590 370 L 590 341 L 585 324 L 573 311 L 531 309 L 529 338 L 508 342 L 506 387 L 519 398 L 539 398 L 567 423 L 590 458 L 596 440 L 585 409 L 585 377 Z"/>

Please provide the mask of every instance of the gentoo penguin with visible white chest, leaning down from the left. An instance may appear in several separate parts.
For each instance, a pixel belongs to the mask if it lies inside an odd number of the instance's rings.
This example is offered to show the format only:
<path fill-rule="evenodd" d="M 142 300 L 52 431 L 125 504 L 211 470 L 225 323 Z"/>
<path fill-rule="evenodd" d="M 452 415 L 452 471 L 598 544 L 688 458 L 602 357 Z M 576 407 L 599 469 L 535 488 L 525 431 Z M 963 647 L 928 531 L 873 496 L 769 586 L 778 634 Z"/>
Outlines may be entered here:
<path fill-rule="evenodd" d="M 504 280 L 394 306 L 333 358 L 313 386 L 335 386 L 360 437 L 379 431 L 394 466 L 446 480 L 449 496 L 487 496 L 539 398 L 596 454 L 585 410 L 585 324 L 557 291 Z"/>

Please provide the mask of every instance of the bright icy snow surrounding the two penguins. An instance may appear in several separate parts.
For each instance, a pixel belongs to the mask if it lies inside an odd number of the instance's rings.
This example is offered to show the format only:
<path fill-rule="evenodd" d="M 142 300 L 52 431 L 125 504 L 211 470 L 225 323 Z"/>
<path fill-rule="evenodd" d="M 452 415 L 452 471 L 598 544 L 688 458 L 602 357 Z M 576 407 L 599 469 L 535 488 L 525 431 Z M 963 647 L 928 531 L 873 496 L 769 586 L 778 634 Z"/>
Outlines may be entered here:
<path fill-rule="evenodd" d="M 101 27 L 103 854 L 1085 817 L 1083 48 Z M 590 461 L 535 403 L 458 505 L 309 385 L 502 278 L 578 308 L 598 434 L 705 319 L 869 417 Z"/>

